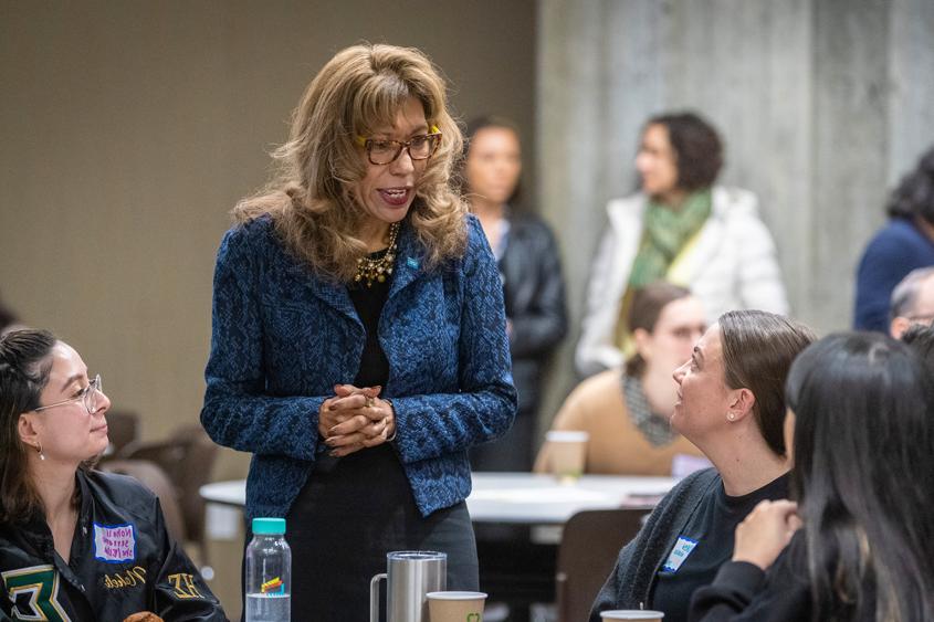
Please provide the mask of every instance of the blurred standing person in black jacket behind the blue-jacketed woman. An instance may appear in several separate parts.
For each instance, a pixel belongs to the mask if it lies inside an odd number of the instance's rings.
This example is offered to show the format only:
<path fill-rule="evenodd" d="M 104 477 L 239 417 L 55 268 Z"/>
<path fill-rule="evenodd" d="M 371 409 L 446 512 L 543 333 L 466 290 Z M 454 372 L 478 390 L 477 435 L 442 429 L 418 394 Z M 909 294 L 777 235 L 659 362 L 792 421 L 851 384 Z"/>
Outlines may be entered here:
<path fill-rule="evenodd" d="M 506 331 L 518 412 L 512 430 L 471 452 L 476 471 L 532 468 L 541 377 L 567 331 L 562 263 L 552 230 L 518 209 L 522 151 L 518 129 L 506 119 L 482 117 L 468 127 L 464 182 L 503 278 Z"/>

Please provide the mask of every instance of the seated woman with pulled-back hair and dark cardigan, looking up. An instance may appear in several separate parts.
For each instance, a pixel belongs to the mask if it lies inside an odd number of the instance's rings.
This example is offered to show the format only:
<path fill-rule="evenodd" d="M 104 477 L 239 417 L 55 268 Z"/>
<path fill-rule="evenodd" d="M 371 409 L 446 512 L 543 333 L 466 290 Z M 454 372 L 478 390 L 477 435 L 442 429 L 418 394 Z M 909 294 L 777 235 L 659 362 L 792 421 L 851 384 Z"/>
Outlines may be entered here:
<path fill-rule="evenodd" d="M 688 620 L 691 594 L 733 554 L 736 525 L 763 499 L 788 496 L 785 378 L 810 329 L 759 310 L 720 316 L 674 372 L 671 426 L 714 464 L 682 479 L 652 510 L 590 613 L 654 609 Z"/>

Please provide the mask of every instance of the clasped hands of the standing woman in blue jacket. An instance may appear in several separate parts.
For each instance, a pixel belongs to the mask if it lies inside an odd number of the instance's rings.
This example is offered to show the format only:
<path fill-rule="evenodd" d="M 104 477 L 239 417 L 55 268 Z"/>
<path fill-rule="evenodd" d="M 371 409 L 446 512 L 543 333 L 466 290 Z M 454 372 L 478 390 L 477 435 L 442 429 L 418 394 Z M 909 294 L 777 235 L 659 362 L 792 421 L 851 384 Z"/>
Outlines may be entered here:
<path fill-rule="evenodd" d="M 396 434 L 392 404 L 379 398 L 382 387 L 335 384 L 334 397 L 318 409 L 318 434 L 335 457 L 375 447 Z"/>

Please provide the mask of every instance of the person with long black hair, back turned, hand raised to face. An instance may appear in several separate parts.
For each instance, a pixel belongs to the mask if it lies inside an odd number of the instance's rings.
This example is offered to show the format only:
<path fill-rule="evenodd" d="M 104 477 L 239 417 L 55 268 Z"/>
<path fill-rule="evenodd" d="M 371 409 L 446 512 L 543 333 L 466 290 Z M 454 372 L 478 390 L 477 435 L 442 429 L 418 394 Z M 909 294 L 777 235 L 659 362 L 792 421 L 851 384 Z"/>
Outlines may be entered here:
<path fill-rule="evenodd" d="M 911 349 L 838 334 L 795 361 L 785 437 L 797 504 L 763 503 L 736 528 L 692 621 L 934 620 L 934 382 Z"/>

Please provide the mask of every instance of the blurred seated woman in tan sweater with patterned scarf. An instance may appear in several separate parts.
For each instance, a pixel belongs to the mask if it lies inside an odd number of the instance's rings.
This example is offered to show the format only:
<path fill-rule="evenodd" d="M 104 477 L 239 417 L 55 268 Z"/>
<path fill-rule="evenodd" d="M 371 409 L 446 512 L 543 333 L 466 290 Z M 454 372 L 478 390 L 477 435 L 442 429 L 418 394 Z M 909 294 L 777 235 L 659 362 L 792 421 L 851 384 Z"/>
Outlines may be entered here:
<path fill-rule="evenodd" d="M 552 430 L 588 432 L 585 473 L 670 475 L 676 456 L 702 456 L 671 429 L 678 387 L 671 372 L 691 357 L 706 328 L 704 309 L 691 292 L 659 282 L 638 291 L 628 324 L 636 354 L 625 369 L 610 369 L 577 386 Z M 548 470 L 545 443 L 535 471 Z"/>

